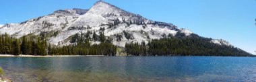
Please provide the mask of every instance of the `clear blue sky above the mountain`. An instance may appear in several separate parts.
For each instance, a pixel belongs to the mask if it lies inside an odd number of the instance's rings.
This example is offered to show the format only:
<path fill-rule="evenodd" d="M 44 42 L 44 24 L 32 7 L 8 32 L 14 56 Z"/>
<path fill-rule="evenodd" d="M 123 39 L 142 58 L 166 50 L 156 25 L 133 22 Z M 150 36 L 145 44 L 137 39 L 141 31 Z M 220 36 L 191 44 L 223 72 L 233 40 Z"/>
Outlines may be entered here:
<path fill-rule="evenodd" d="M 58 9 L 90 9 L 97 0 L 1 0 L 0 24 L 20 23 Z M 104 0 L 203 37 L 224 39 L 255 54 L 255 0 Z"/>

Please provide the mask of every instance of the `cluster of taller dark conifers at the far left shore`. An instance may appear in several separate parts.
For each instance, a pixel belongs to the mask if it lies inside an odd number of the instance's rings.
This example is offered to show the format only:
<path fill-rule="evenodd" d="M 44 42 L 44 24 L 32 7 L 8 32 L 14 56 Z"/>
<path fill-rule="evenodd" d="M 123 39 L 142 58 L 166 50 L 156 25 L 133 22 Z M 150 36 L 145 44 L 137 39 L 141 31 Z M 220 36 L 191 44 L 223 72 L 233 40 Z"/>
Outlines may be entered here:
<path fill-rule="evenodd" d="M 11 55 L 47 55 L 46 41 L 39 37 L 21 37 L 15 39 L 10 35 L 0 35 L 0 54 Z"/>

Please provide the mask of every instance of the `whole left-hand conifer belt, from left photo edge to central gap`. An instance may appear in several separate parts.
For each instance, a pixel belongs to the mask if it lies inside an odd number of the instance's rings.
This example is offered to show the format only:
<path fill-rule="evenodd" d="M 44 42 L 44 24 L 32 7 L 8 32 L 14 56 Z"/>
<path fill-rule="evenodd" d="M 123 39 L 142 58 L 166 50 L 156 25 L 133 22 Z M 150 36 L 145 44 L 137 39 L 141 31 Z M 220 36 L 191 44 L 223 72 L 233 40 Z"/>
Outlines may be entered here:
<path fill-rule="evenodd" d="M 0 35 L 0 54 L 11 55 L 115 55 L 117 47 L 102 42 L 90 45 L 88 41 L 74 45 L 49 45 L 45 39 L 36 36 L 24 36 L 15 39 L 10 35 Z"/>

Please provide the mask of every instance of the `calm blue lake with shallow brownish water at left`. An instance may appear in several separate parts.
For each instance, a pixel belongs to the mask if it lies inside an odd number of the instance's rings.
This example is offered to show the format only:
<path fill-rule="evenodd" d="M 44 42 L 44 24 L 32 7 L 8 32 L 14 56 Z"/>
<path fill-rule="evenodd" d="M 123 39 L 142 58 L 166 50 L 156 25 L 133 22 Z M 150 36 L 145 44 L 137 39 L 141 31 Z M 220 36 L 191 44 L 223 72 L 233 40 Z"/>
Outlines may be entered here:
<path fill-rule="evenodd" d="M 13 81 L 256 81 L 256 57 L 0 57 Z"/>

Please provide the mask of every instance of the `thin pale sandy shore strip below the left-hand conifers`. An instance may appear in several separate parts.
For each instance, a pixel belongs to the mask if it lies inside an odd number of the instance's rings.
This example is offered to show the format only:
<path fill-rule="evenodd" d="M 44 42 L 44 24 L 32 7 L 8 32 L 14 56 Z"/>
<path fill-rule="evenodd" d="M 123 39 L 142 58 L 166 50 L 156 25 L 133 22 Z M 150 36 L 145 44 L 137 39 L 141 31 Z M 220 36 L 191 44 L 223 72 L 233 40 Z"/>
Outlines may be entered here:
<path fill-rule="evenodd" d="M 99 57 L 104 55 L 0 55 L 0 57 Z"/>

